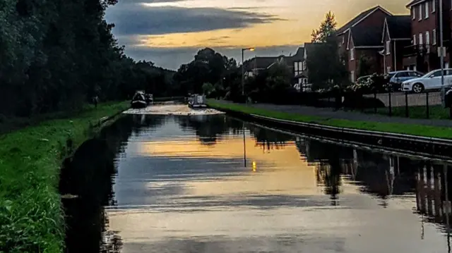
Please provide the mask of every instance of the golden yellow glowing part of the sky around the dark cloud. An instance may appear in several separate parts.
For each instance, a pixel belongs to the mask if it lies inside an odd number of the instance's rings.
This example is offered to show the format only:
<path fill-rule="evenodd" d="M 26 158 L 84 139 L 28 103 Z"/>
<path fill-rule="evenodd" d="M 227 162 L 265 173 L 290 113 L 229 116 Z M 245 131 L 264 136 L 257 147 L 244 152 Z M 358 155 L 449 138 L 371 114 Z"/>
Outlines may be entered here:
<path fill-rule="evenodd" d="M 272 47 L 300 45 L 309 42 L 311 30 L 318 27 L 324 15 L 333 11 L 339 25 L 347 22 L 367 8 L 383 6 L 395 14 L 408 13 L 403 0 L 189 0 L 180 2 L 145 4 L 184 8 L 224 8 L 253 11 L 274 15 L 271 23 L 251 25 L 239 29 L 222 29 L 207 32 L 182 32 L 167 35 L 141 35 L 138 39 L 145 47 Z"/>

